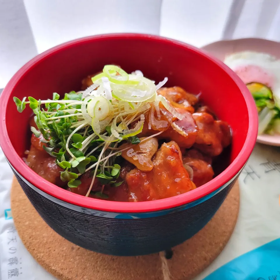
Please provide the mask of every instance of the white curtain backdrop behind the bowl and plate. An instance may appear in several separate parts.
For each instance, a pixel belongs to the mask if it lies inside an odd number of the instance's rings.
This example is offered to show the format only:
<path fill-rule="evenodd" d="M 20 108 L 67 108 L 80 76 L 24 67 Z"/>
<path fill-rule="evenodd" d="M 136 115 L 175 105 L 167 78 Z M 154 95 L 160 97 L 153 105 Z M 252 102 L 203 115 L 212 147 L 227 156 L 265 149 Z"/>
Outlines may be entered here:
<path fill-rule="evenodd" d="M 159 34 L 194 46 L 280 40 L 279 0 L 0 0 L 0 88 L 37 53 L 111 32 Z"/>

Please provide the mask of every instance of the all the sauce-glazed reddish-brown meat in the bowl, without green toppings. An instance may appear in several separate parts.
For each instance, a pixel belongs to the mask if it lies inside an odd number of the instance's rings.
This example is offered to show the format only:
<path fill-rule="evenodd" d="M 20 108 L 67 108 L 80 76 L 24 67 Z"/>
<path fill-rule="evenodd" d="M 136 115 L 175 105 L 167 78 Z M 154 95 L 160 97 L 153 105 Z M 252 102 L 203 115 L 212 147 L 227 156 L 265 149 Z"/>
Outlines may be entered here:
<path fill-rule="evenodd" d="M 86 77 L 82 89 L 92 84 Z M 161 88 L 173 108 L 183 115 L 178 120 L 162 104 L 152 105 L 145 115 L 143 130 L 137 135 L 141 140 L 163 132 L 145 142 L 133 145 L 122 154 L 117 186 L 102 185 L 98 178 L 92 183 L 92 170 L 80 176 L 77 188 L 67 187 L 60 179 L 63 171 L 43 148 L 43 137 L 31 136 L 31 148 L 26 159 L 29 167 L 41 177 L 78 195 L 85 196 L 92 184 L 89 197 L 123 202 L 141 202 L 182 194 L 197 188 L 220 174 L 230 164 L 231 132 L 229 125 L 217 120 L 208 106 L 199 104 L 197 96 L 180 87 Z M 133 124 L 131 124 L 133 125 Z M 30 126 L 36 127 L 31 118 Z M 128 144 L 122 144 L 122 148 Z M 120 157 L 121 158 L 121 157 Z M 185 166 L 192 168 L 190 179 Z M 100 196 L 100 193 L 102 194 Z"/>

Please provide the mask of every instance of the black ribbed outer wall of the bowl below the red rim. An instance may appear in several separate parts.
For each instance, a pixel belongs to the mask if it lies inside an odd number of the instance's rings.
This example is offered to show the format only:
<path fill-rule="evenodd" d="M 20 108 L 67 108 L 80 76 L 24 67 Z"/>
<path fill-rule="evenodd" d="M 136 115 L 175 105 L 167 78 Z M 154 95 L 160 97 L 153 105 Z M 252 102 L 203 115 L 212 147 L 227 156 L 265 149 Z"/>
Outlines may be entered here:
<path fill-rule="evenodd" d="M 119 256 L 164 251 L 192 237 L 213 217 L 240 174 L 189 204 L 129 214 L 85 209 L 63 202 L 39 190 L 12 169 L 30 202 L 53 230 L 88 250 Z"/>

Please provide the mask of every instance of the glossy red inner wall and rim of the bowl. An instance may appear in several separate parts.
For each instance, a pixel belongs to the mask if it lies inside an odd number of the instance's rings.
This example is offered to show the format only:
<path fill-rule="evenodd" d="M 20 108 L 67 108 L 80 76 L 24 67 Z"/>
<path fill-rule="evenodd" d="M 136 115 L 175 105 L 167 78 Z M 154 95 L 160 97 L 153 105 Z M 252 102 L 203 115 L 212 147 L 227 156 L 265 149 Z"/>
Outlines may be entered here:
<path fill-rule="evenodd" d="M 28 120 L 31 109 L 18 113 L 16 96 L 36 99 L 79 90 L 81 80 L 105 64 L 118 64 L 125 71 L 141 70 L 167 86 L 178 85 L 202 93 L 202 101 L 218 118 L 232 127 L 230 165 L 205 185 L 183 195 L 149 202 L 111 202 L 76 195 L 38 176 L 21 157 L 29 148 Z M 44 192 L 82 207 L 112 212 L 145 212 L 168 209 L 199 199 L 227 183 L 241 170 L 255 144 L 258 117 L 251 94 L 222 62 L 202 51 L 174 40 L 141 34 L 108 34 L 86 37 L 52 48 L 24 65 L 10 80 L 0 100 L 0 144 L 10 164 Z"/>

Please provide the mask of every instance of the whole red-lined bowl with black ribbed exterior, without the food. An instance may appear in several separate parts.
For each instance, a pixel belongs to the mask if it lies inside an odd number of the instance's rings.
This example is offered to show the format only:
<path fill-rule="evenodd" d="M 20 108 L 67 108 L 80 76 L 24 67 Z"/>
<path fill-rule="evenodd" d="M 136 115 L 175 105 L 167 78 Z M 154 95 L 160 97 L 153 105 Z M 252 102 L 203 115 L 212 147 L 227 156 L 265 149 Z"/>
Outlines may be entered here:
<path fill-rule="evenodd" d="M 18 113 L 16 96 L 51 98 L 79 90 L 105 64 L 141 70 L 167 86 L 198 94 L 232 128 L 229 164 L 201 187 L 149 202 L 112 202 L 76 195 L 49 183 L 22 160 L 30 145 L 30 108 Z M 171 248 L 201 230 L 218 210 L 250 156 L 258 131 L 255 103 L 227 66 L 185 43 L 142 34 L 107 34 L 52 48 L 25 64 L 0 98 L 0 144 L 25 194 L 58 234 L 83 248 L 111 255 L 143 255 Z M 223 162 L 221 163 L 223 164 Z"/>

